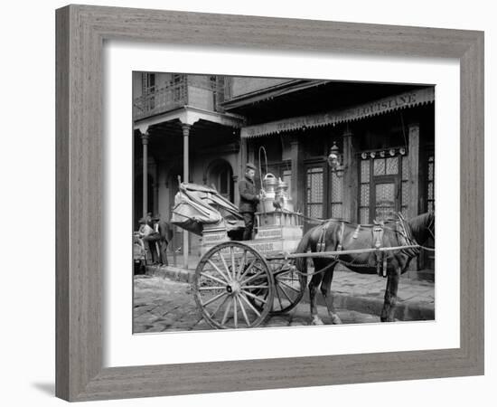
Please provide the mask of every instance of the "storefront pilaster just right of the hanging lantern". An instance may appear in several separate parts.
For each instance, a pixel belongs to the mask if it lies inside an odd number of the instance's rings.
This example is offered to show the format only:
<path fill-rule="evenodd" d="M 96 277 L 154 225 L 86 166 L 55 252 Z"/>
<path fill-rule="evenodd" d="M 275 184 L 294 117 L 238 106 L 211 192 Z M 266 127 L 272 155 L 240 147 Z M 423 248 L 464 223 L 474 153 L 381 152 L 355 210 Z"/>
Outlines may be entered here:
<path fill-rule="evenodd" d="M 356 222 L 358 212 L 358 164 L 352 143 L 352 136 L 352 131 L 348 128 L 343 133 L 342 218 L 345 221 Z"/>

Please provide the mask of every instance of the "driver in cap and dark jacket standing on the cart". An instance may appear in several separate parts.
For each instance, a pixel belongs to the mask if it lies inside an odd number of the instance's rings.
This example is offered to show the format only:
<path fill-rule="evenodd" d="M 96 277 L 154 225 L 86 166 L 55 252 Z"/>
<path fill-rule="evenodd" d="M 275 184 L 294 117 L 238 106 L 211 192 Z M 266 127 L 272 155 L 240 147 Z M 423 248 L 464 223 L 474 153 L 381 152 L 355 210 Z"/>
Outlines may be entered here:
<path fill-rule="evenodd" d="M 256 185 L 254 183 L 255 176 L 256 166 L 252 163 L 247 163 L 245 178 L 239 182 L 239 213 L 241 213 L 245 222 L 245 230 L 243 231 L 244 241 L 252 239 L 254 217 L 259 202 Z"/>

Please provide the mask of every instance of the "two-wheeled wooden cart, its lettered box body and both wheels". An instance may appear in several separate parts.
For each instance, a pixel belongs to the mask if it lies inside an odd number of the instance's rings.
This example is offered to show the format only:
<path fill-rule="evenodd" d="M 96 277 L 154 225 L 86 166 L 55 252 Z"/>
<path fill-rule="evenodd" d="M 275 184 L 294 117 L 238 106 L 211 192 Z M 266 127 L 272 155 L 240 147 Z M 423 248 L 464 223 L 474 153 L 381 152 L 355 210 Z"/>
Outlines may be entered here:
<path fill-rule="evenodd" d="M 230 241 L 225 230 L 205 227 L 202 259 L 195 270 L 195 301 L 204 319 L 216 328 L 258 327 L 269 315 L 283 314 L 304 296 L 306 279 L 294 260 L 302 239 L 302 215 L 256 213 L 251 241 Z"/>

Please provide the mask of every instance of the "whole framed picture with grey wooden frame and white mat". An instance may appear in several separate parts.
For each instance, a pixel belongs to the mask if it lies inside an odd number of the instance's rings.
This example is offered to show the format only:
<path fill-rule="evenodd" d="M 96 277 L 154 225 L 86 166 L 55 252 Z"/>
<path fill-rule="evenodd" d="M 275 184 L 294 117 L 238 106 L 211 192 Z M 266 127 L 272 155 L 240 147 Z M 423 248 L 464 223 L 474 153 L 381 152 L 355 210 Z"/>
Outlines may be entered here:
<path fill-rule="evenodd" d="M 483 374 L 483 33 L 56 22 L 59 397 Z"/>

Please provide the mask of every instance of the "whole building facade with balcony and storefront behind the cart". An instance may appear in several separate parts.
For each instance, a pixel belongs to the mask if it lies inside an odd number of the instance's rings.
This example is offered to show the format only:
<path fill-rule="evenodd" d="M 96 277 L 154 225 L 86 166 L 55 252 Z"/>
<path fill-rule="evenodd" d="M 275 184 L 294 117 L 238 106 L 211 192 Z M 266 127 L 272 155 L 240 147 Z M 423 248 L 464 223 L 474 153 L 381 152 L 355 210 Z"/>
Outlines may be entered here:
<path fill-rule="evenodd" d="M 146 212 L 169 218 L 178 176 L 238 204 L 248 161 L 290 185 L 307 227 L 435 210 L 433 87 L 134 75 L 135 221 Z M 336 166 L 328 165 L 331 151 Z M 198 238 L 177 232 L 174 244 L 200 253 Z M 423 256 L 414 268 L 429 278 L 434 259 Z"/>

